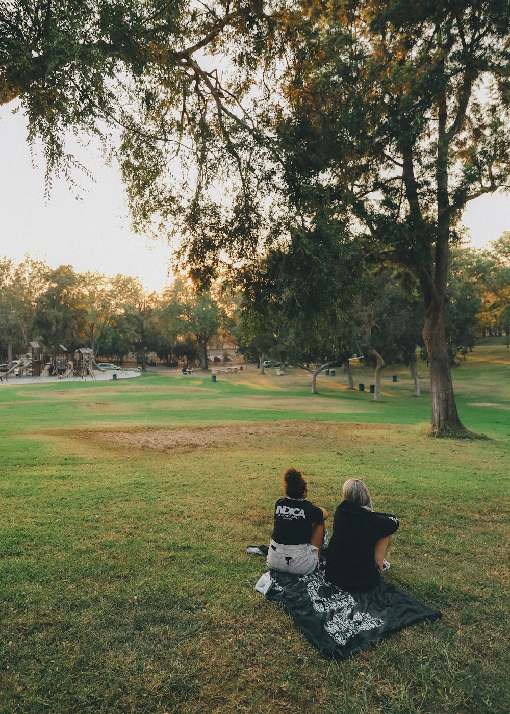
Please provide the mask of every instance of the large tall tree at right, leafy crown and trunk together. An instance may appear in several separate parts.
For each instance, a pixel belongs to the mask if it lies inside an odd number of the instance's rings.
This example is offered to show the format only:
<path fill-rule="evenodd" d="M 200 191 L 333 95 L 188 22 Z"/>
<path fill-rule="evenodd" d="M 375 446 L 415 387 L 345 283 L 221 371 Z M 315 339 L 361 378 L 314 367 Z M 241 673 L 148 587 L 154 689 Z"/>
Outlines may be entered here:
<path fill-rule="evenodd" d="M 444 338 L 449 250 L 466 203 L 509 177 L 509 3 L 303 6 L 278 125 L 301 210 L 351 216 L 383 259 L 416 273 L 431 421 L 462 431 Z"/>

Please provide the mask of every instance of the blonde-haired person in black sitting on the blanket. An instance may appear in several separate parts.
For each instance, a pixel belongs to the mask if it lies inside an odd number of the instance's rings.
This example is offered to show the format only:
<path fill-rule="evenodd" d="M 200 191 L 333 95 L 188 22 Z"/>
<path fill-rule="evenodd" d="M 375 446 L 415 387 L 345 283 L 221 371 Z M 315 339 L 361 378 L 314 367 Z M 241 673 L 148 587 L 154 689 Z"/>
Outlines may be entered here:
<path fill-rule="evenodd" d="M 386 569 L 384 555 L 399 519 L 374 511 L 370 493 L 359 478 L 344 483 L 343 495 L 333 518 L 326 580 L 344 590 L 370 590 L 379 584 Z"/>

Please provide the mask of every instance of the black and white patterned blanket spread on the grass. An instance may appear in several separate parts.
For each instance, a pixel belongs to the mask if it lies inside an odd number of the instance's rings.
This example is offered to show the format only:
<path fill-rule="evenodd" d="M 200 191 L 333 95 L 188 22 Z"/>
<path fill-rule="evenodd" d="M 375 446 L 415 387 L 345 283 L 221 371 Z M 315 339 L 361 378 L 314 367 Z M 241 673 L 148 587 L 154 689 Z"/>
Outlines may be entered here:
<path fill-rule="evenodd" d="M 366 593 L 348 593 L 328 583 L 321 570 L 311 575 L 270 570 L 255 588 L 269 600 L 284 603 L 312 645 L 340 659 L 421 620 L 441 617 L 439 610 L 427 608 L 384 580 Z"/>

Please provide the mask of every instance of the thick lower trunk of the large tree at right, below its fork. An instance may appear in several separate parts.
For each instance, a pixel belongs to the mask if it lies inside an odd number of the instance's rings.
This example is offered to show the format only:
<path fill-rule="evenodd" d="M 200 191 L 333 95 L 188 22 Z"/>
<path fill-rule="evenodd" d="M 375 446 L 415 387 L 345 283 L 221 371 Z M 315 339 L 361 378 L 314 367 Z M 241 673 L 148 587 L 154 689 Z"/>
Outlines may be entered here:
<path fill-rule="evenodd" d="M 438 433 L 464 432 L 457 413 L 444 337 L 444 306 L 431 303 L 425 313 L 424 341 L 429 353 L 431 424 Z"/>

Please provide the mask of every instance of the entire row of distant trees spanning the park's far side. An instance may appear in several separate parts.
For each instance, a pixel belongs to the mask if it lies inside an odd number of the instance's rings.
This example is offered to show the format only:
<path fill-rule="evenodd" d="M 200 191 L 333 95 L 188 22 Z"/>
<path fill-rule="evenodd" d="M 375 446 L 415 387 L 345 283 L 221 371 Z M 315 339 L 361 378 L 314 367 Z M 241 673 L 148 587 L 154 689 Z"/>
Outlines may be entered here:
<path fill-rule="evenodd" d="M 451 366 L 474 347 L 477 336 L 510 334 L 510 231 L 489 248 L 452 251 L 446 305 L 446 346 Z M 409 271 L 382 265 L 355 243 L 319 230 L 291 246 L 266 251 L 256 271 L 245 263 L 199 289 L 179 277 L 161 293 L 137 278 L 49 268 L 29 257 L 0 259 L 0 350 L 11 363 L 29 341 L 49 355 L 89 347 L 95 356 L 122 363 L 133 353 L 144 370 L 148 353 L 166 366 L 191 363 L 206 369 L 207 350 L 235 343 L 259 363 L 278 361 L 316 377 L 343 368 L 354 388 L 349 360 L 375 369 L 406 363 L 419 396 L 416 354 L 427 358 L 421 337 L 424 311 Z"/>

